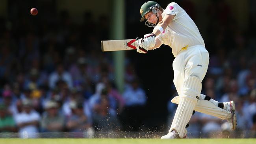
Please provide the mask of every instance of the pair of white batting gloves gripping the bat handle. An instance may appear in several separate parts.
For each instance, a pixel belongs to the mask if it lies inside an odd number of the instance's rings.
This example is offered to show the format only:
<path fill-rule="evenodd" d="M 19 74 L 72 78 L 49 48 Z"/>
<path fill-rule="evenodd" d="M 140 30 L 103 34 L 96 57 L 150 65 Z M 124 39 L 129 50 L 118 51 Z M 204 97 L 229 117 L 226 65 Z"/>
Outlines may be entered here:
<path fill-rule="evenodd" d="M 147 54 L 148 48 L 152 48 L 156 44 L 155 37 L 156 37 L 155 34 L 148 33 L 144 35 L 144 39 L 137 40 L 138 42 L 137 52 L 142 54 Z"/>

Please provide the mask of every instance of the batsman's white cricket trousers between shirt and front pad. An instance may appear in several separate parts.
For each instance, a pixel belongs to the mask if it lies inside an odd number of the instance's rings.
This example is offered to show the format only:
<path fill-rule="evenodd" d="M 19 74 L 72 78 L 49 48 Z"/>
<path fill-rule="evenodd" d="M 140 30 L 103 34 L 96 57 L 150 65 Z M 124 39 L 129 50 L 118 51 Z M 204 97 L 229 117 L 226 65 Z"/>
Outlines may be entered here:
<path fill-rule="evenodd" d="M 201 82 L 207 72 L 209 53 L 203 45 L 190 46 L 180 51 L 173 61 L 173 83 L 179 95 L 183 82 L 189 76 L 197 76 Z"/>

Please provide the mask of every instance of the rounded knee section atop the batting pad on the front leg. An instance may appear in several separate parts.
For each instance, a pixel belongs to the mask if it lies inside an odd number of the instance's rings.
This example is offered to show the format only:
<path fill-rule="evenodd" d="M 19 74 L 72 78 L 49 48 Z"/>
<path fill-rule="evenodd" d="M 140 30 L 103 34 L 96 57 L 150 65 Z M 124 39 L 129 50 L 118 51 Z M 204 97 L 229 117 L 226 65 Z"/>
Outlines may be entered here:
<path fill-rule="evenodd" d="M 182 87 L 182 97 L 198 101 L 202 90 L 202 82 L 196 76 L 189 76 L 185 79 Z"/>

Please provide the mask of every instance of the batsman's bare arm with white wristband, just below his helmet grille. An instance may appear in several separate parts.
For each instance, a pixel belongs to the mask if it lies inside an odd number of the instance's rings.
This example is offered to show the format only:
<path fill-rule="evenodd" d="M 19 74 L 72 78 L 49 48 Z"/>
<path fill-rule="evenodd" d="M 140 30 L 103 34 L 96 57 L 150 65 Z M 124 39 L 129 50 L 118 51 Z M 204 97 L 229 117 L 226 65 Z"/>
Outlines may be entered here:
<path fill-rule="evenodd" d="M 175 15 L 165 15 L 163 19 L 156 25 L 152 33 L 154 33 L 156 36 L 160 35 L 161 31 L 159 30 L 159 28 L 165 30 L 174 17 Z"/>

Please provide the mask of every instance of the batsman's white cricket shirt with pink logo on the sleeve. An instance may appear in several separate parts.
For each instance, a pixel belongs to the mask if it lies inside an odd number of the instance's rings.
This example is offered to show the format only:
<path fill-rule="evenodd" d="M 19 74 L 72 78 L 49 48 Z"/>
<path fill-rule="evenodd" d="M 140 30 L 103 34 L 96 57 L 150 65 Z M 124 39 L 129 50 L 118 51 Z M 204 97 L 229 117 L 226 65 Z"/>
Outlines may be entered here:
<path fill-rule="evenodd" d="M 165 15 L 175 15 L 173 21 L 156 38 L 162 44 L 169 45 L 172 48 L 174 57 L 184 48 L 195 45 L 203 45 L 204 40 L 193 20 L 187 15 L 175 2 L 170 3 L 162 13 Z"/>

